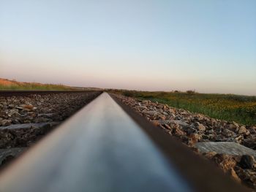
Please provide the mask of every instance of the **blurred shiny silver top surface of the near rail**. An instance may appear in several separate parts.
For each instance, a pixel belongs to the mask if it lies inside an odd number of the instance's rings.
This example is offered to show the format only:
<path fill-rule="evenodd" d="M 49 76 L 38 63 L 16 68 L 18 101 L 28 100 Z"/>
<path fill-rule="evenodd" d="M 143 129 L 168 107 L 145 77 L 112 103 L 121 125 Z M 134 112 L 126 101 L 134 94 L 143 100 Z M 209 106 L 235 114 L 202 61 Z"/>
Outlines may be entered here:
<path fill-rule="evenodd" d="M 0 175 L 0 191 L 193 191 L 102 93 Z"/>

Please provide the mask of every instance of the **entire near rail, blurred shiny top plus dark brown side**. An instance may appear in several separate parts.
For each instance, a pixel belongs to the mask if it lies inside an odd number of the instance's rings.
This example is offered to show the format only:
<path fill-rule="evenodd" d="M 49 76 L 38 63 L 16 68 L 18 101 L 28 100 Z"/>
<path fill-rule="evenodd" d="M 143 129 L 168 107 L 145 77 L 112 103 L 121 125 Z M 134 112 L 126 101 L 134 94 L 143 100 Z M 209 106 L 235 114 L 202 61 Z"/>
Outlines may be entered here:
<path fill-rule="evenodd" d="M 0 191 L 247 191 L 102 93 L 0 174 Z"/>

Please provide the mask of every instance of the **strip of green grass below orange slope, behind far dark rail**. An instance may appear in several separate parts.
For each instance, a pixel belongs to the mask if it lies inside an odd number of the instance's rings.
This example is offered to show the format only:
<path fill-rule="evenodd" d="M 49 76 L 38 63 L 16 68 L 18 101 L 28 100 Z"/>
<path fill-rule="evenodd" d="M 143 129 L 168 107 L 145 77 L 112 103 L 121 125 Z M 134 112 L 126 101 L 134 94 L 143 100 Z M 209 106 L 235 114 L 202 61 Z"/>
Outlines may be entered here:
<path fill-rule="evenodd" d="M 42 90 L 42 91 L 71 91 L 75 90 L 74 88 L 65 86 L 65 85 L 51 85 L 51 84 L 42 84 L 38 83 L 27 83 L 24 85 L 0 85 L 1 91 L 18 91 L 18 90 Z"/>

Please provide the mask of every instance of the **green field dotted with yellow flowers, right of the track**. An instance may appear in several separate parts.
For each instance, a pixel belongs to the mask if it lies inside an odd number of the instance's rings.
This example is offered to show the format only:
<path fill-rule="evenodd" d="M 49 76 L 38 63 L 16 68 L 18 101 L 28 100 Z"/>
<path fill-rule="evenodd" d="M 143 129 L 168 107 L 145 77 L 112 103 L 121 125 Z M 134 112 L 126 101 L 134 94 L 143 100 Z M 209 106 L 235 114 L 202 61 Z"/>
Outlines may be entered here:
<path fill-rule="evenodd" d="M 211 118 L 236 121 L 245 125 L 256 125 L 256 96 L 192 92 L 119 91 L 119 93 L 138 99 L 158 101 L 190 112 L 203 113 Z"/>

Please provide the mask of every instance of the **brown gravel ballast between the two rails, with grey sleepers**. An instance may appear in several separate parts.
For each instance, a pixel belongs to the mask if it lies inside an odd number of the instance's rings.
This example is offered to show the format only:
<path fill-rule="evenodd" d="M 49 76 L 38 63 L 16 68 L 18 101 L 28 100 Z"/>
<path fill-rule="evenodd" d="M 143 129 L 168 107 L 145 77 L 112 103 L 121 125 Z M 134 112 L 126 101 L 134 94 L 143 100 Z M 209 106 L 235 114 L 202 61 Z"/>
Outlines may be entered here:
<path fill-rule="evenodd" d="M 20 154 L 9 153 L 12 148 L 26 150 L 100 93 L 0 97 L 0 167 Z"/>

